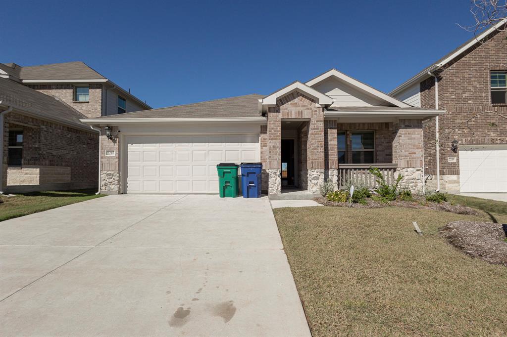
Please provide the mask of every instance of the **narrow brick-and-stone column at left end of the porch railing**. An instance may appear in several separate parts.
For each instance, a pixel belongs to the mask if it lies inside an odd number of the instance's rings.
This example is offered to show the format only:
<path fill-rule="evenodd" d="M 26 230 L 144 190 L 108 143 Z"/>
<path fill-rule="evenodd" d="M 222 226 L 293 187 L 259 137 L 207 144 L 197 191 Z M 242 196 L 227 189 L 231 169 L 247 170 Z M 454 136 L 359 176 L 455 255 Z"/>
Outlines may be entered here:
<path fill-rule="evenodd" d="M 336 120 L 324 120 L 324 179 L 338 189 L 338 134 Z"/>

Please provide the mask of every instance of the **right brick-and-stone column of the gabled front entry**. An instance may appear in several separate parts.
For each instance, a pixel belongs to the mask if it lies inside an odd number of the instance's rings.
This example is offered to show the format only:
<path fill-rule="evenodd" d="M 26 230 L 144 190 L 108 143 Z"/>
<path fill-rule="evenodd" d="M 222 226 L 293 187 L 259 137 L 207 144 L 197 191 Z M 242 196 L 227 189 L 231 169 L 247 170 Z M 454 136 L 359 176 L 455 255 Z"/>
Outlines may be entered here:
<path fill-rule="evenodd" d="M 308 191 L 311 193 L 319 193 L 324 183 L 324 146 L 324 109 L 317 106 L 312 110 L 308 127 Z"/>

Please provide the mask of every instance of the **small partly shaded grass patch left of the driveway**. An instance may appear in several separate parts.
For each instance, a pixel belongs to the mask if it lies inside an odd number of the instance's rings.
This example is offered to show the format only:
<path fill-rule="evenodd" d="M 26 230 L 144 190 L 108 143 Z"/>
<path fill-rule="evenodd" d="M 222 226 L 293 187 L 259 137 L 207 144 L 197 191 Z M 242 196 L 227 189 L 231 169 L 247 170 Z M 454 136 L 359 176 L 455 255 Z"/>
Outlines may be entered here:
<path fill-rule="evenodd" d="M 94 199 L 96 190 L 47 191 L 16 194 L 14 197 L 0 196 L 0 221 L 22 217 L 43 210 Z"/>

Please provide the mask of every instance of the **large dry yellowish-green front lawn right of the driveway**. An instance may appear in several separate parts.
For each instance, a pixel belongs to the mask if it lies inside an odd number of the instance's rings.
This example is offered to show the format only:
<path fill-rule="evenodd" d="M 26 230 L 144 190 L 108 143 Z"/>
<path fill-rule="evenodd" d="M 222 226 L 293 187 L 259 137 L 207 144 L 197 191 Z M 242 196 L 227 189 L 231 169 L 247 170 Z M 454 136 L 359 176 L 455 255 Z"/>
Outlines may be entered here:
<path fill-rule="evenodd" d="M 507 268 L 470 258 L 438 233 L 488 215 L 327 206 L 274 213 L 313 336 L 507 335 Z"/>

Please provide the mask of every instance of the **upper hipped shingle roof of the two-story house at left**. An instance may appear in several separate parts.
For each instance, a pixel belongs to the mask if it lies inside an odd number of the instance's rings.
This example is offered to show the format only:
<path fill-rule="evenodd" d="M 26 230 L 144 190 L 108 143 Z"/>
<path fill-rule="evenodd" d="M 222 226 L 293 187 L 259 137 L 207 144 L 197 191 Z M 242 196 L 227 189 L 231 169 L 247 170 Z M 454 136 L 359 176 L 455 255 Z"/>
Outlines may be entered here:
<path fill-rule="evenodd" d="M 20 79 L 106 79 L 81 61 L 21 67 Z"/>

